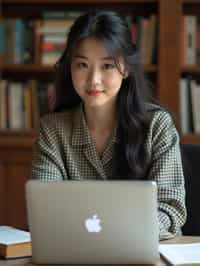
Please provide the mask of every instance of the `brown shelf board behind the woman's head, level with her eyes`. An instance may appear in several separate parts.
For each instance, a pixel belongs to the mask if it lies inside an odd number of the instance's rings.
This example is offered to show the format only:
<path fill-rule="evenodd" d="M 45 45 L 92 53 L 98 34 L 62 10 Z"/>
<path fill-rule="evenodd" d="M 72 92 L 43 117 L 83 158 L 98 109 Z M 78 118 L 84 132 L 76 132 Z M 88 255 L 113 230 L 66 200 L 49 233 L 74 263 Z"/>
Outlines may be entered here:
<path fill-rule="evenodd" d="M 50 74 L 54 72 L 54 68 L 50 66 L 38 66 L 38 65 L 3 65 L 1 71 L 6 73 L 23 73 L 23 74 Z M 157 66 L 148 65 L 144 67 L 144 71 L 147 73 L 154 73 L 157 71 Z"/>

